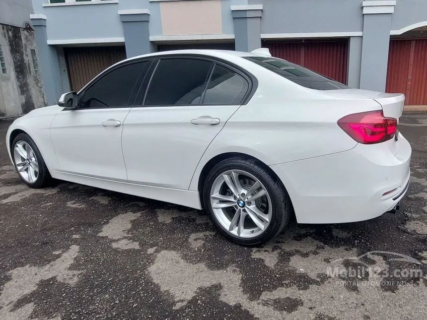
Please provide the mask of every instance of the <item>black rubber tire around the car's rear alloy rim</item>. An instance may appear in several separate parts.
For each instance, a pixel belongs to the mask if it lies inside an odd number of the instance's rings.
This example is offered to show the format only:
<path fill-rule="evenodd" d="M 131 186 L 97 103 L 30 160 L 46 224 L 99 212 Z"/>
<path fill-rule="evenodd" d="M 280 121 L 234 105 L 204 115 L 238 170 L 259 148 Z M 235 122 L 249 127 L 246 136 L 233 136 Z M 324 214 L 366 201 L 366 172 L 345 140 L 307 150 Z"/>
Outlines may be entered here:
<path fill-rule="evenodd" d="M 264 185 L 268 194 L 270 195 L 273 209 L 272 218 L 267 229 L 256 238 L 242 239 L 230 234 L 219 224 L 214 216 L 210 199 L 211 188 L 215 179 L 227 170 L 242 170 L 250 173 Z M 218 230 L 231 241 L 245 246 L 262 245 L 277 237 L 289 222 L 293 212 L 292 203 L 283 184 L 268 170 L 266 170 L 266 167 L 263 163 L 249 157 L 245 158 L 236 156 L 225 159 L 216 164 L 208 174 L 208 177 L 205 181 L 203 188 L 203 199 L 205 210 Z"/>

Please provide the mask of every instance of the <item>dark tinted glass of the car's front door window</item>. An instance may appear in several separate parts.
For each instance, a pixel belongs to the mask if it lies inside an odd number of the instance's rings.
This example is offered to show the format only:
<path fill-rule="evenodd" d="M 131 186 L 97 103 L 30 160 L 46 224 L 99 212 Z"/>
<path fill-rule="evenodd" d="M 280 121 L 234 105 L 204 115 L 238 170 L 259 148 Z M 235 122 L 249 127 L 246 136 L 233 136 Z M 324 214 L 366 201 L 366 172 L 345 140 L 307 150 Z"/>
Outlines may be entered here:
<path fill-rule="evenodd" d="M 108 72 L 83 93 L 80 108 L 129 106 L 129 98 L 148 62 L 128 64 Z"/>

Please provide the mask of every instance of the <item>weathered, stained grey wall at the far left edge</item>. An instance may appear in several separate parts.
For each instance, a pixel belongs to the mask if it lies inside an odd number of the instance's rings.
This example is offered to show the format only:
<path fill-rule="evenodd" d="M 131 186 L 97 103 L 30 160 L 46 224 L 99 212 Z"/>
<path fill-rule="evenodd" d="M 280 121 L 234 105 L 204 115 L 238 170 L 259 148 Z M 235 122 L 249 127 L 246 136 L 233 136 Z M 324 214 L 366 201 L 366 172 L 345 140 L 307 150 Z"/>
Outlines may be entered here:
<path fill-rule="evenodd" d="M 0 1 L 0 118 L 45 105 L 31 0 Z"/>

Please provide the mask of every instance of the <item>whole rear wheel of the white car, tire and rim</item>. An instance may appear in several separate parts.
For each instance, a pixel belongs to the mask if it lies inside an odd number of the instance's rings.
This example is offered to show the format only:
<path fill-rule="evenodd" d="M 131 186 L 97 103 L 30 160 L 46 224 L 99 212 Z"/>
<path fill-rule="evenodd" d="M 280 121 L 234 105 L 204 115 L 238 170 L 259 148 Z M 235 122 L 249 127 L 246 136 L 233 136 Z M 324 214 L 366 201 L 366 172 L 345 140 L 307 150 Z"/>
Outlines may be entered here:
<path fill-rule="evenodd" d="M 205 182 L 204 203 L 220 232 L 242 245 L 275 238 L 289 221 L 292 207 L 276 177 L 259 161 L 242 157 L 214 166 Z"/>

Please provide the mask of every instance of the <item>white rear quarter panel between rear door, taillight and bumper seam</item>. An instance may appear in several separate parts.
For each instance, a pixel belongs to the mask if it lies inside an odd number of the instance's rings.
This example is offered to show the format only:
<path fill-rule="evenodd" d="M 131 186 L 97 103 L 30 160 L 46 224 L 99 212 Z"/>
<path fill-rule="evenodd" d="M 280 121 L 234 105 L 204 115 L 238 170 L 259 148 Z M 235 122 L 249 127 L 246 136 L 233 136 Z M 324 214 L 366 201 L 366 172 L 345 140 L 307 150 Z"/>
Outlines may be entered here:
<path fill-rule="evenodd" d="M 204 165 L 218 154 L 244 153 L 271 166 L 350 150 L 357 142 L 337 121 L 380 109 L 374 100 L 338 99 L 270 71 L 264 76 L 257 74 L 259 86 L 252 99 L 234 113 L 206 150 L 190 190 L 197 190 Z"/>

